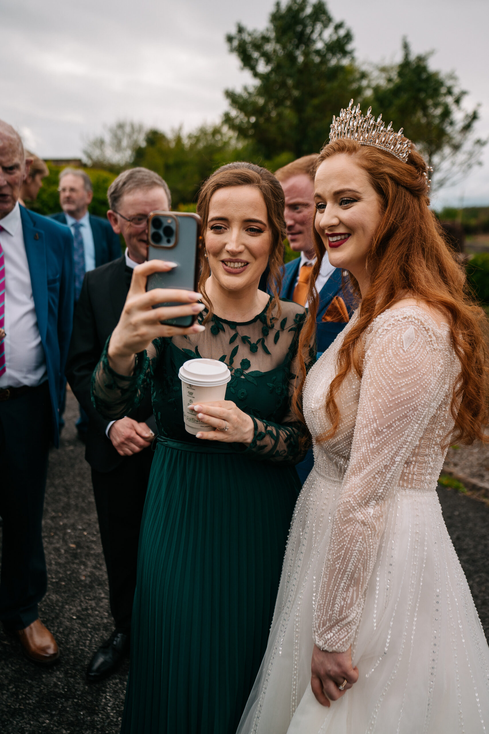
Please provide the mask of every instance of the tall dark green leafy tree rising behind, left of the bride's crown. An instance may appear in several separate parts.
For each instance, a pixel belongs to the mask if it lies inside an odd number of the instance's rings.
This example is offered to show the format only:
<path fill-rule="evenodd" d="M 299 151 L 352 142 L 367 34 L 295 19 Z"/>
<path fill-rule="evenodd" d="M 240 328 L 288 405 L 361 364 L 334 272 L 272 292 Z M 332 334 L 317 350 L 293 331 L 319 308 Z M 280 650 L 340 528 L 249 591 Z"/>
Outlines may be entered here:
<path fill-rule="evenodd" d="M 265 161 L 319 152 L 333 115 L 361 90 L 352 40 L 323 0 L 276 2 L 263 31 L 238 23 L 227 43 L 257 84 L 224 92 L 231 107 L 224 121 Z"/>

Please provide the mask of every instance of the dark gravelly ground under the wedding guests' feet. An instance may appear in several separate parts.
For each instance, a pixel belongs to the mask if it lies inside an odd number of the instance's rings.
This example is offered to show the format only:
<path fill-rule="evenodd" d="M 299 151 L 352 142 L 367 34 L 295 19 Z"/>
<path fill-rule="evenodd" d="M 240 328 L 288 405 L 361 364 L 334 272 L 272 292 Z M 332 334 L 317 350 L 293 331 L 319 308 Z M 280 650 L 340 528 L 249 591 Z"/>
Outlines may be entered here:
<path fill-rule="evenodd" d="M 84 678 L 100 641 L 112 631 L 109 592 L 84 446 L 76 438 L 76 401 L 67 394 L 67 426 L 51 452 L 44 539 L 48 594 L 40 617 L 61 650 L 59 664 L 41 669 L 27 661 L 0 628 L 0 731 L 2 734 L 116 734 L 120 730 L 128 663 L 96 686 Z M 484 451 L 454 450 L 468 465 Z M 446 526 L 489 637 L 489 506 L 455 490 L 438 495 Z"/>

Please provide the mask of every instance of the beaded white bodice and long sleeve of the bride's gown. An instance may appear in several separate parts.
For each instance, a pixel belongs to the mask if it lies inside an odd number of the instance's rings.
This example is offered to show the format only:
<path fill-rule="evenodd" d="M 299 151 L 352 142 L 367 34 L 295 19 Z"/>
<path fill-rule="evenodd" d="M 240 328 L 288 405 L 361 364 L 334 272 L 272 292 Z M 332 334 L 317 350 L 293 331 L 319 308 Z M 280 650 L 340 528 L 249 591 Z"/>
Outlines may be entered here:
<path fill-rule="evenodd" d="M 304 415 L 313 437 L 330 426 L 326 393 L 355 320 L 306 380 Z M 435 491 L 459 371 L 448 326 L 420 306 L 387 310 L 364 334 L 362 377 L 348 374 L 336 396 L 337 433 L 314 446 L 320 481 L 312 487 L 340 484 L 315 594 L 314 635 L 323 650 L 348 650 L 353 642 L 391 498 Z"/>

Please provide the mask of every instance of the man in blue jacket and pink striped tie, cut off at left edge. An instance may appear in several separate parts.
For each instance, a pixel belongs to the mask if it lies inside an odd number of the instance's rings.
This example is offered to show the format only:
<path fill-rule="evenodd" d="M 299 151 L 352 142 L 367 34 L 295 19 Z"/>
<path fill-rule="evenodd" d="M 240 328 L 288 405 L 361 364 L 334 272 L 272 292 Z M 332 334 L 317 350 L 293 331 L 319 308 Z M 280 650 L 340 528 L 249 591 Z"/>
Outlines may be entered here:
<path fill-rule="evenodd" d="M 0 620 L 27 657 L 59 650 L 39 619 L 47 586 L 42 521 L 48 451 L 73 322 L 73 237 L 18 203 L 29 172 L 21 138 L 0 121 Z"/>

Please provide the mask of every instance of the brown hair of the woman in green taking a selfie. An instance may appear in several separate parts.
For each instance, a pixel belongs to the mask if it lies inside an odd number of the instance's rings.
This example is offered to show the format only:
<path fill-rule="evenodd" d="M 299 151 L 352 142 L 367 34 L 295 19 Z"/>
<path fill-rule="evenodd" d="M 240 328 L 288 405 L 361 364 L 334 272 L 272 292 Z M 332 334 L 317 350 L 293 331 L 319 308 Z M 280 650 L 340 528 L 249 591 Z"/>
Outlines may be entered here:
<path fill-rule="evenodd" d="M 284 264 L 283 242 L 285 239 L 284 208 L 285 198 L 282 186 L 275 176 L 266 168 L 255 166 L 252 163 L 228 163 L 218 168 L 207 178 L 199 192 L 197 201 L 197 214 L 202 219 L 202 272 L 199 278 L 199 292 L 207 302 L 208 311 L 204 323 L 213 316 L 213 305 L 205 291 L 205 283 L 210 276 L 209 261 L 205 257 L 205 230 L 209 218 L 210 200 L 218 189 L 227 189 L 228 186 L 254 186 L 263 199 L 268 214 L 268 224 L 271 228 L 272 245 L 268 255 L 268 287 L 273 298 L 268 306 L 267 318 L 270 322 L 272 312 L 278 319 L 282 313 L 279 301 L 280 288 L 282 288 L 282 266 Z"/>

